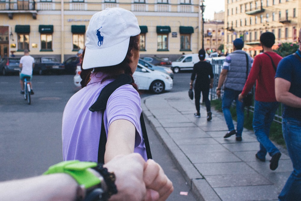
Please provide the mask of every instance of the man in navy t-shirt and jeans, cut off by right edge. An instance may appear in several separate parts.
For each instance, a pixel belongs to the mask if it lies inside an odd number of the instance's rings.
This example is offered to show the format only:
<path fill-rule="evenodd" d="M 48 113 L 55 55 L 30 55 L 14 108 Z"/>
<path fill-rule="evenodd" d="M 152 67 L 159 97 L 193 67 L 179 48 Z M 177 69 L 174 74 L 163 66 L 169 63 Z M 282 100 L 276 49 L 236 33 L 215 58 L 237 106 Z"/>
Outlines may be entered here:
<path fill-rule="evenodd" d="M 279 194 L 280 201 L 301 198 L 301 29 L 298 43 L 299 49 L 279 62 L 275 76 L 276 99 L 283 103 L 283 137 L 293 163 L 293 172 Z"/>

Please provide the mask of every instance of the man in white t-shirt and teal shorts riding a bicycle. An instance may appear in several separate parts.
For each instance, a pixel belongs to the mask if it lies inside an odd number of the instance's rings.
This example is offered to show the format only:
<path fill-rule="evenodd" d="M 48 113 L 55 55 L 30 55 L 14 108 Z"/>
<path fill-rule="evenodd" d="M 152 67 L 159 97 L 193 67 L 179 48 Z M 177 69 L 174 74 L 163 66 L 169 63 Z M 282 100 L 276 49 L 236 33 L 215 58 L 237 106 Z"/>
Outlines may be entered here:
<path fill-rule="evenodd" d="M 28 49 L 24 50 L 24 56 L 20 59 L 19 67 L 22 68 L 20 73 L 20 84 L 21 84 L 21 94 L 24 94 L 24 77 L 30 77 L 29 81 L 31 81 L 33 77 L 33 67 L 35 65 L 35 59 L 29 55 Z M 33 95 L 33 87 L 30 82 L 30 91 Z"/>

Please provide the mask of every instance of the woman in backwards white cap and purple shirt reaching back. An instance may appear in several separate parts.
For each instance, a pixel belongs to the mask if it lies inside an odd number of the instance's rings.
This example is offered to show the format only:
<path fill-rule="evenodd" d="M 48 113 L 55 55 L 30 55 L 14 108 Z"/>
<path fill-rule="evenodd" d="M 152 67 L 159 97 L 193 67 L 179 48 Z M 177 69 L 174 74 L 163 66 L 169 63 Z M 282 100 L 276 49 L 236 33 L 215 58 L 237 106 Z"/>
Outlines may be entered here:
<path fill-rule="evenodd" d="M 98 162 L 102 115 L 107 133 L 104 162 L 132 152 L 147 160 L 141 99 L 133 79 L 112 93 L 104 114 L 89 110 L 104 86 L 120 74 L 132 78 L 138 65 L 140 32 L 135 15 L 123 8 L 107 8 L 92 16 L 83 52 L 82 89 L 70 98 L 63 115 L 64 160 Z"/>

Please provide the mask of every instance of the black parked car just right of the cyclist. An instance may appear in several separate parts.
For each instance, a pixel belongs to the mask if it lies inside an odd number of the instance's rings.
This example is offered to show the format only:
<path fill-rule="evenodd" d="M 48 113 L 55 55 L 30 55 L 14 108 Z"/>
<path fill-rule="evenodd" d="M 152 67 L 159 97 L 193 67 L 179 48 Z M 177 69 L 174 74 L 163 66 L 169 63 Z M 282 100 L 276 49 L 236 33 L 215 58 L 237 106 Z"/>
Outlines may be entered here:
<path fill-rule="evenodd" d="M 35 58 L 35 67 L 33 68 L 33 73 L 42 75 L 46 72 L 56 72 L 57 74 L 60 74 L 64 72 L 64 70 L 64 64 L 58 62 L 55 57 Z"/>

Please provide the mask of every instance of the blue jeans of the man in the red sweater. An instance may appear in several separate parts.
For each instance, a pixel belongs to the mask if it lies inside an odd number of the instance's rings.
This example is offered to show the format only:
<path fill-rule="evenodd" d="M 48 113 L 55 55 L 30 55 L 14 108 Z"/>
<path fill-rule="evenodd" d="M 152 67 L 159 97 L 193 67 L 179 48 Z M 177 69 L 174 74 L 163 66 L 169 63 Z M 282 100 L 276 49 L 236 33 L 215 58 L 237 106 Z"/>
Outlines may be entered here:
<path fill-rule="evenodd" d="M 260 143 L 259 151 L 257 152 L 260 159 L 265 159 L 267 152 L 270 156 L 279 152 L 279 149 L 277 149 L 268 138 L 270 135 L 270 127 L 278 106 L 278 102 L 261 102 L 255 100 L 253 129 L 257 140 Z"/>

